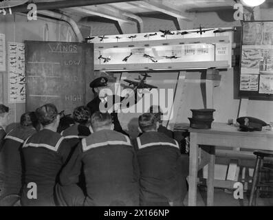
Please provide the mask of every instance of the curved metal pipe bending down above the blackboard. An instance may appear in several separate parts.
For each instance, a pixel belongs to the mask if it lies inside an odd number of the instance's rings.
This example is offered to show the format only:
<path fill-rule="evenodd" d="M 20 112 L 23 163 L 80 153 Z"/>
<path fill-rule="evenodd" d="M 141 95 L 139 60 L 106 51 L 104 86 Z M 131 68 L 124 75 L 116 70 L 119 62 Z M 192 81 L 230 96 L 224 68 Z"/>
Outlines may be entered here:
<path fill-rule="evenodd" d="M 77 23 L 72 18 L 68 17 L 65 14 L 60 14 L 60 13 L 57 13 L 57 12 L 52 12 L 52 11 L 47 11 L 47 10 L 41 10 L 41 11 L 38 11 L 37 13 L 38 14 L 43 14 L 43 15 L 48 16 L 48 17 L 53 17 L 55 19 L 59 19 L 59 20 L 62 20 L 62 21 L 66 21 L 67 23 L 69 23 L 69 25 L 71 25 L 72 30 L 74 31 L 74 33 L 77 36 L 78 42 L 83 42 L 83 35 L 81 34 Z"/>

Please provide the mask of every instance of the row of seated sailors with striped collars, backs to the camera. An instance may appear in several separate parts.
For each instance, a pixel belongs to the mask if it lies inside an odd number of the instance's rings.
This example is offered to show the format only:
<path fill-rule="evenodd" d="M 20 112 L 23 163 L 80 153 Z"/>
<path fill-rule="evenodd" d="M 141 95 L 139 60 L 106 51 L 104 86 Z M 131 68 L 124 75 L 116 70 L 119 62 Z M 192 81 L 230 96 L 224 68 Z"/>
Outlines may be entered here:
<path fill-rule="evenodd" d="M 7 115 L 0 105 L 0 206 L 14 205 L 11 195 L 21 206 L 183 206 L 179 144 L 157 131 L 154 113 L 140 115 L 134 140 L 113 131 L 109 113 L 87 107 L 74 110 L 76 124 L 61 134 L 54 104 L 24 113 L 5 134 Z"/>

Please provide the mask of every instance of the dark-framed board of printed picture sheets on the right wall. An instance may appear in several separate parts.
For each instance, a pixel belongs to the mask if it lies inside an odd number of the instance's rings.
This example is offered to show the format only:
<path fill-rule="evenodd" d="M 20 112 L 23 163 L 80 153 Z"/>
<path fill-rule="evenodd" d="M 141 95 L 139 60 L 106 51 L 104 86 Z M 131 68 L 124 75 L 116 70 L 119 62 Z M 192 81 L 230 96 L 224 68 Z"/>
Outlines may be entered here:
<path fill-rule="evenodd" d="M 239 96 L 273 100 L 273 21 L 244 21 Z"/>

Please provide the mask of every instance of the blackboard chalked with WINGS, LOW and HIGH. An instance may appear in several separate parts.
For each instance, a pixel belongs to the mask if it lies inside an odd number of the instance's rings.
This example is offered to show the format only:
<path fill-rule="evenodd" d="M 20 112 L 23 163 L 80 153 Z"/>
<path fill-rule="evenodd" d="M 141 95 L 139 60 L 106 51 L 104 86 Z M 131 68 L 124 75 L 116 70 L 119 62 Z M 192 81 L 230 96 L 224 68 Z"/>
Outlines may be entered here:
<path fill-rule="evenodd" d="M 26 111 L 53 103 L 72 113 L 87 104 L 94 79 L 91 43 L 25 41 Z"/>

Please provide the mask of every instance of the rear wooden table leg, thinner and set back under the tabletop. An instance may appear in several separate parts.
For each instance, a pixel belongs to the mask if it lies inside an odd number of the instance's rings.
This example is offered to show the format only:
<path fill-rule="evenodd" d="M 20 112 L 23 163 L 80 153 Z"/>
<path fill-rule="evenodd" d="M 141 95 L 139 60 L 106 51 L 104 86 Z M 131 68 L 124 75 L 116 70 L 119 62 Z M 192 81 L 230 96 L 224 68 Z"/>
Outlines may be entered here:
<path fill-rule="evenodd" d="M 215 146 L 210 146 L 210 162 L 208 163 L 207 206 L 213 206 L 215 180 Z"/>

